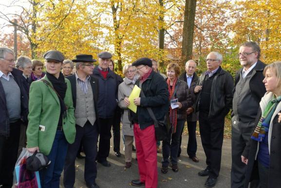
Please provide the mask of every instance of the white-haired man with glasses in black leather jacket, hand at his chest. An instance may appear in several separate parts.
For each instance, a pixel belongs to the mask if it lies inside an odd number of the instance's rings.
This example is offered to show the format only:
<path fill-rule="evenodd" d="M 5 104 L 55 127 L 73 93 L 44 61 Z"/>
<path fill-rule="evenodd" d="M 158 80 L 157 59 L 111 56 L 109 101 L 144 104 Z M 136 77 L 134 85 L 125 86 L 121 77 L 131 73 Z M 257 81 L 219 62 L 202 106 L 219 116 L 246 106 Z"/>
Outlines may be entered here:
<path fill-rule="evenodd" d="M 211 52 L 206 58 L 207 71 L 195 87 L 196 111 L 199 111 L 199 129 L 206 154 L 206 169 L 198 173 L 208 176 L 205 187 L 214 187 L 221 169 L 225 115 L 232 107 L 233 78 L 220 66 L 223 56 Z"/>

